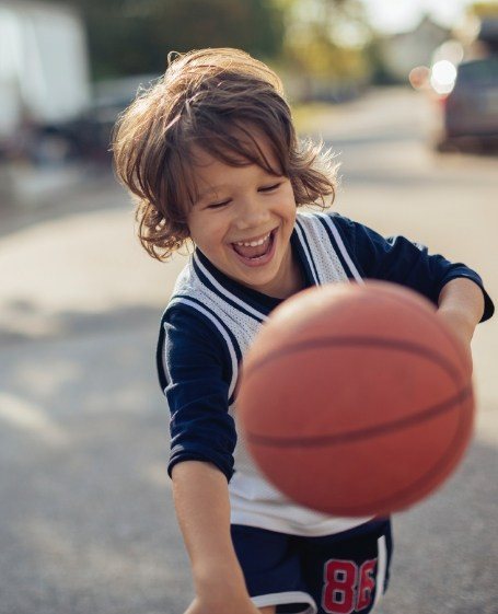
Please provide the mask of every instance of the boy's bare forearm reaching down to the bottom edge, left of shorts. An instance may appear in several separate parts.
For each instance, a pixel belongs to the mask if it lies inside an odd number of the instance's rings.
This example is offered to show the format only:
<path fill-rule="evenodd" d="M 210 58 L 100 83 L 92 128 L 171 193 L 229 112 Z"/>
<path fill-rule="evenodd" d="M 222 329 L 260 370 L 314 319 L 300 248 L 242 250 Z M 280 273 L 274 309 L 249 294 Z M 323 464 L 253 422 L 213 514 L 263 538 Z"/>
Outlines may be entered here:
<path fill-rule="evenodd" d="M 172 479 L 197 595 L 188 613 L 256 614 L 230 534 L 227 477 L 211 463 L 184 461 Z"/>

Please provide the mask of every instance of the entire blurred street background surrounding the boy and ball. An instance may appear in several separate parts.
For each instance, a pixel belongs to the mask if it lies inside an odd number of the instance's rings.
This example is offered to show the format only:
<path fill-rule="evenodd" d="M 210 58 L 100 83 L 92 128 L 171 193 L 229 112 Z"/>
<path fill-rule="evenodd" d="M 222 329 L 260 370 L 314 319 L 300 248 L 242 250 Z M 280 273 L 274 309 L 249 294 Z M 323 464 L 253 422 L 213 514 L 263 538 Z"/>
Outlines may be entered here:
<path fill-rule="evenodd" d="M 169 51 L 240 47 L 341 163 L 334 207 L 463 260 L 498 297 L 498 2 L 0 0 L 0 613 L 182 614 L 192 599 L 155 381 L 185 264 L 152 260 L 112 172 Z M 476 433 L 394 519 L 384 614 L 496 614 L 498 325 Z"/>

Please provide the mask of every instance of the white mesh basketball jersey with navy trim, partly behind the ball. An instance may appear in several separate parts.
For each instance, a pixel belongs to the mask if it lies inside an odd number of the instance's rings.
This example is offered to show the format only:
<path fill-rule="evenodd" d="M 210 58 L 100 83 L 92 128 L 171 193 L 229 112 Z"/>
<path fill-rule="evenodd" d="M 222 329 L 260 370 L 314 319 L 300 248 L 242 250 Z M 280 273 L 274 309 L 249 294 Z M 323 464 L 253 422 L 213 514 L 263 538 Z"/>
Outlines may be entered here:
<path fill-rule="evenodd" d="M 299 219 L 302 221 L 303 232 L 308 239 L 321 282 L 347 281 L 347 274 L 320 219 L 309 213 L 299 213 Z M 298 238 L 303 244 L 301 232 L 298 232 Z M 303 247 L 305 246 L 303 245 Z M 309 254 L 308 248 L 304 251 Z M 201 263 L 197 260 L 197 264 L 201 266 L 202 273 L 213 283 L 215 290 L 202 283 L 190 259 L 178 277 L 174 294 L 193 297 L 200 301 L 201 305 L 211 310 L 216 315 L 212 316 L 211 314 L 210 318 L 219 318 L 218 329 L 222 325 L 227 326 L 235 337 L 240 351 L 244 356 L 259 331 L 260 323 L 244 313 L 242 309 L 262 320 L 266 320 L 265 315 L 244 303 L 240 297 L 221 287 Z M 311 265 L 311 263 L 309 264 Z M 236 306 L 229 304 L 227 298 L 235 302 Z M 206 314 L 206 310 L 201 305 L 196 306 L 194 302 L 189 302 L 189 304 Z M 233 356 L 234 348 L 230 348 L 231 341 L 228 335 L 224 334 L 223 337 L 229 346 L 229 351 Z M 234 371 L 231 389 L 238 378 L 236 364 Z M 264 399 L 262 401 L 264 402 Z M 234 405 L 229 408 L 229 412 L 236 422 Z M 234 451 L 235 474 L 230 483 L 232 522 L 297 535 L 324 535 L 352 529 L 368 520 L 368 518 L 332 518 L 289 501 L 259 473 L 244 445 L 242 437 L 240 437 L 240 429 L 238 429 L 238 443 Z"/>

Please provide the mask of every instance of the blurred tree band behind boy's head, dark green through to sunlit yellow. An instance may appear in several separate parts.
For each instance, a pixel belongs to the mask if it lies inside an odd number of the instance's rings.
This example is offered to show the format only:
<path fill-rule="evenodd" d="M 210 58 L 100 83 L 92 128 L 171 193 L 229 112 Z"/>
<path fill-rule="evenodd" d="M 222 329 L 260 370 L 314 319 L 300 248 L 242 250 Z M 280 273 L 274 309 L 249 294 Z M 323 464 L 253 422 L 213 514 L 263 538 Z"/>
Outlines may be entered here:
<path fill-rule="evenodd" d="M 51 1 L 51 0 L 47 0 Z M 305 78 L 364 81 L 361 0 L 67 0 L 86 24 L 95 80 L 162 73 L 169 51 L 238 47 Z M 375 67 L 378 70 L 378 67 Z"/>

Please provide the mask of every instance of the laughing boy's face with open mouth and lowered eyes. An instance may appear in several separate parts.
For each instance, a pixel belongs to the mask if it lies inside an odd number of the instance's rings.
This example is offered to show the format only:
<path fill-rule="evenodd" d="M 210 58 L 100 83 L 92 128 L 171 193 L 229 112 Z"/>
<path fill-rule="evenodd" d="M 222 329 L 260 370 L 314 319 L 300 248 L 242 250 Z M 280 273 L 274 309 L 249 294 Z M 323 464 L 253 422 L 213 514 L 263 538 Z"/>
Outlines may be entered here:
<path fill-rule="evenodd" d="M 265 139 L 257 142 L 278 167 Z M 296 221 L 290 179 L 256 164 L 230 166 L 200 149 L 195 157 L 201 196 L 187 216 L 194 243 L 219 270 L 244 286 L 277 298 L 297 291 L 299 276 L 289 242 Z"/>

